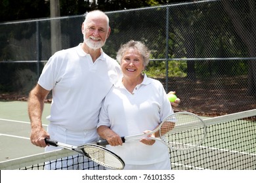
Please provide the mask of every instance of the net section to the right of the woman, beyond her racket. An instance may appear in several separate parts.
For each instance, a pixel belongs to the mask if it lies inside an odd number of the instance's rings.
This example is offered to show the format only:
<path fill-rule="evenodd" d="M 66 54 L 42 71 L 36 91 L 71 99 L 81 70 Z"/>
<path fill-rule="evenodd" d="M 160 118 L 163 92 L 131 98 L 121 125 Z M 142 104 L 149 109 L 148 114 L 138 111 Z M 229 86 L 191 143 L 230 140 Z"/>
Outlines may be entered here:
<path fill-rule="evenodd" d="M 203 119 L 207 136 L 192 150 L 170 150 L 172 169 L 256 169 L 256 109 Z"/>

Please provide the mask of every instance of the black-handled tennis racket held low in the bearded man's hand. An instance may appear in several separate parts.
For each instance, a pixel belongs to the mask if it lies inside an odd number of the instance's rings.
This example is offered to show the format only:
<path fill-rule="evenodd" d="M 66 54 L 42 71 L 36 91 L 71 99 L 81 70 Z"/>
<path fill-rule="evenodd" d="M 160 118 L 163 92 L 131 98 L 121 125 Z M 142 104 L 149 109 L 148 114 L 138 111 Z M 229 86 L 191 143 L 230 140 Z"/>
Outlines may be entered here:
<path fill-rule="evenodd" d="M 96 144 L 84 144 L 82 146 L 72 146 L 51 139 L 45 139 L 45 142 L 51 146 L 60 146 L 69 150 L 74 150 L 83 156 L 95 161 L 99 165 L 108 169 L 121 170 L 125 167 L 123 159 L 114 154 L 114 152 Z"/>

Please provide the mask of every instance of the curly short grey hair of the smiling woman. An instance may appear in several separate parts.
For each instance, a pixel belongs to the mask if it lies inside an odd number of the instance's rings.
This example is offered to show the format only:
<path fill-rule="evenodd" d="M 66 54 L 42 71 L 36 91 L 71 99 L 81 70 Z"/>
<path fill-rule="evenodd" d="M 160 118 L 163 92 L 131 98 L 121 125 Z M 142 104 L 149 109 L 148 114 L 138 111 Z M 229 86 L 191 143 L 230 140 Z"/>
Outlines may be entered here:
<path fill-rule="evenodd" d="M 129 41 L 125 44 L 123 44 L 116 55 L 116 59 L 119 63 L 121 63 L 121 60 L 123 59 L 123 54 L 129 50 L 129 48 L 134 48 L 138 50 L 138 52 L 142 55 L 143 58 L 143 65 L 146 67 L 148 65 L 149 59 L 150 59 L 150 50 L 148 47 L 143 44 L 140 41 Z"/>

